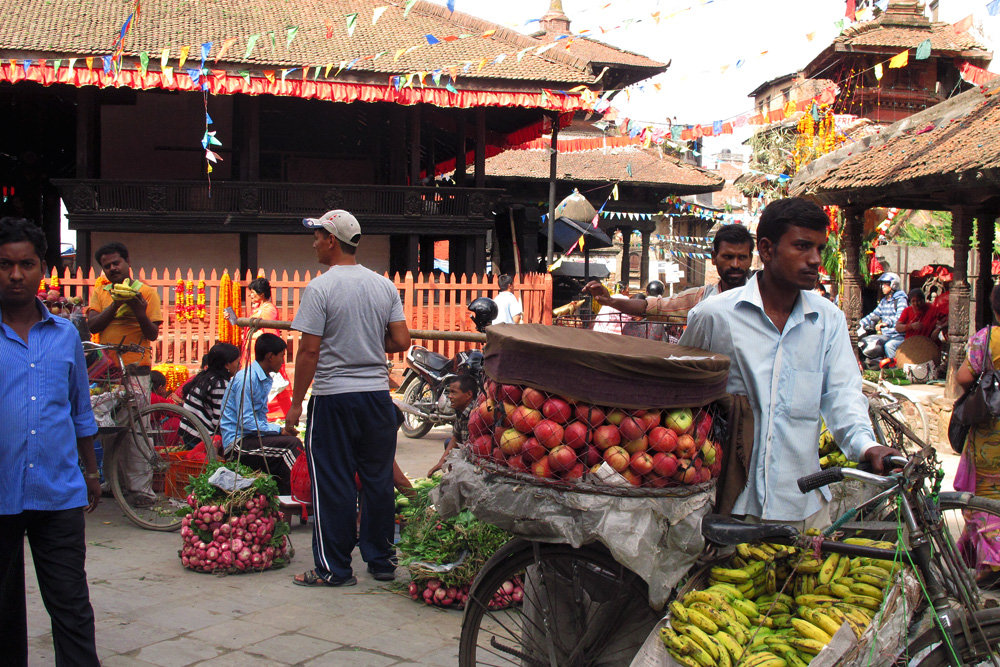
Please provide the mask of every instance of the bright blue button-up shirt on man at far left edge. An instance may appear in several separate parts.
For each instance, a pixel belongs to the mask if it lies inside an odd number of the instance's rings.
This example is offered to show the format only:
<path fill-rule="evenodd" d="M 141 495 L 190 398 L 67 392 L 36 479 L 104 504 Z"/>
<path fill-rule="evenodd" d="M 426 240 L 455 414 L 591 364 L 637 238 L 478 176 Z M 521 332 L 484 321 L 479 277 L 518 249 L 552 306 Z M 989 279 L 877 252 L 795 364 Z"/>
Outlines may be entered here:
<path fill-rule="evenodd" d="M 83 345 L 69 320 L 37 305 L 27 343 L 0 325 L 0 514 L 87 504 L 76 440 L 97 422 Z"/>

